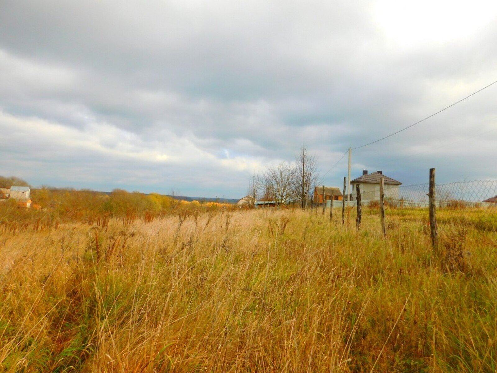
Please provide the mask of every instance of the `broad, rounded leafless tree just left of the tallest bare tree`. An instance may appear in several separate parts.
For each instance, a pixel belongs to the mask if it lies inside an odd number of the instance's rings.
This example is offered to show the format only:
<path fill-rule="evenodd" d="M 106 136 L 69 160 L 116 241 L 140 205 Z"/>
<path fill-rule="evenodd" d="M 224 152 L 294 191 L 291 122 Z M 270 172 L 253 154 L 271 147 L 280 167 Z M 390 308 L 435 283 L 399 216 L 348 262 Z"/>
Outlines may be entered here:
<path fill-rule="evenodd" d="M 278 166 L 269 166 L 262 178 L 264 194 L 271 196 L 276 203 L 285 203 L 294 196 L 295 167 L 281 162 Z"/>

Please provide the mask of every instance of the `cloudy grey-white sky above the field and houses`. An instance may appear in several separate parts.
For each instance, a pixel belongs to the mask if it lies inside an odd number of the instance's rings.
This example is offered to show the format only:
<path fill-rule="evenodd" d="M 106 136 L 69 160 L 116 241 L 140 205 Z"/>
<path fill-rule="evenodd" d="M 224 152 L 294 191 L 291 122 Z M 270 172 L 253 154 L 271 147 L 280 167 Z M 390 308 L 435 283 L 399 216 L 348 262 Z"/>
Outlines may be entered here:
<path fill-rule="evenodd" d="M 237 198 L 302 143 L 325 174 L 496 80 L 496 1 L 2 0 L 0 175 Z M 352 177 L 497 179 L 496 104 L 353 151 Z"/>

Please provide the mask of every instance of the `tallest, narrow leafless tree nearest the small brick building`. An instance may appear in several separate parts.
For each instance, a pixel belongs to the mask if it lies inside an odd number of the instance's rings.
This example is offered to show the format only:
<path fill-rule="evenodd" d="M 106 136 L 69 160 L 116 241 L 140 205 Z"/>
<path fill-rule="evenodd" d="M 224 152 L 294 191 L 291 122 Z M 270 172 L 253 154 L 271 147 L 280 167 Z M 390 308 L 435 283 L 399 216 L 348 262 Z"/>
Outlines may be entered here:
<path fill-rule="evenodd" d="M 308 153 L 305 145 L 302 145 L 299 154 L 295 156 L 295 162 L 297 166 L 293 189 L 300 206 L 304 208 L 309 201 L 311 189 L 320 182 L 317 159 Z"/>

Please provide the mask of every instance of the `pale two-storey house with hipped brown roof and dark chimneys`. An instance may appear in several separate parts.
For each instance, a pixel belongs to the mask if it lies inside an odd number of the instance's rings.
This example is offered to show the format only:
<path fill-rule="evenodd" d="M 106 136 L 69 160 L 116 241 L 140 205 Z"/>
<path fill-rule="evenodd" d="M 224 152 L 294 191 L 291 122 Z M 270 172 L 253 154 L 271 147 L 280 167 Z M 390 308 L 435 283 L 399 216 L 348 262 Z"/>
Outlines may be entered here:
<path fill-rule="evenodd" d="M 350 200 L 355 201 L 357 194 L 357 186 L 361 186 L 361 197 L 364 201 L 378 200 L 380 199 L 380 178 L 383 177 L 383 193 L 386 198 L 399 198 L 399 186 L 402 185 L 395 179 L 389 178 L 383 175 L 382 171 L 372 172 L 368 174 L 366 170 L 362 172 L 362 175 L 357 179 L 350 182 L 352 186 Z"/>

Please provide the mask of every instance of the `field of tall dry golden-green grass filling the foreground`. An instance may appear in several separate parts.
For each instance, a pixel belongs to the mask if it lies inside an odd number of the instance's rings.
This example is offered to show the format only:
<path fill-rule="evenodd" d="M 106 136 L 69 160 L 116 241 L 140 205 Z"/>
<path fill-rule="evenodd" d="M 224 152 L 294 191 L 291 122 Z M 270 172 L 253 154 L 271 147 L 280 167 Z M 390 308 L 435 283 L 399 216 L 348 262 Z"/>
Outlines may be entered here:
<path fill-rule="evenodd" d="M 340 212 L 0 225 L 0 371 L 496 372 L 495 231 Z"/>

